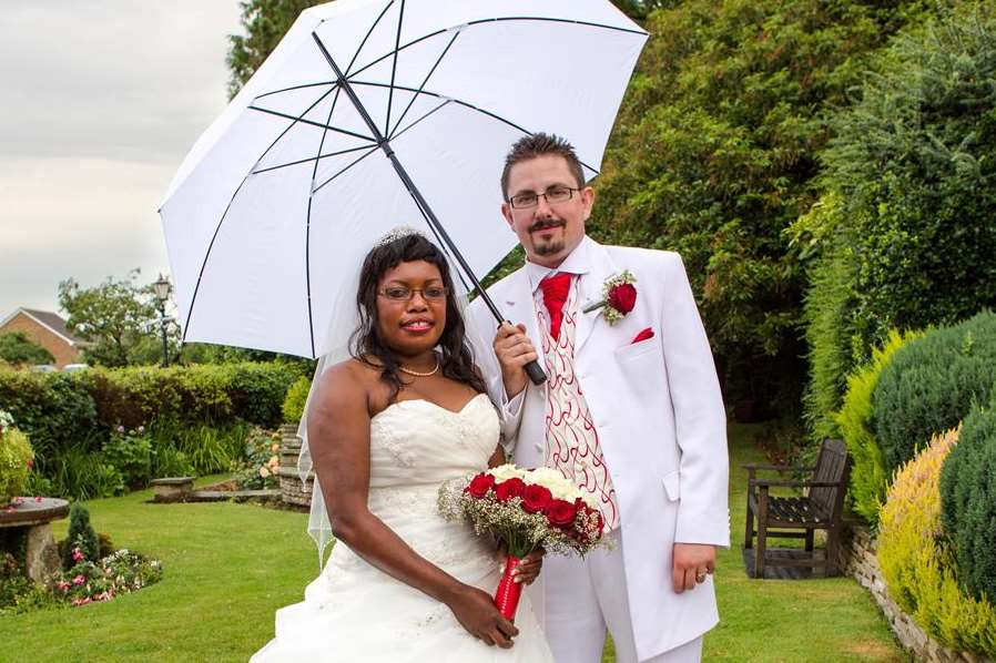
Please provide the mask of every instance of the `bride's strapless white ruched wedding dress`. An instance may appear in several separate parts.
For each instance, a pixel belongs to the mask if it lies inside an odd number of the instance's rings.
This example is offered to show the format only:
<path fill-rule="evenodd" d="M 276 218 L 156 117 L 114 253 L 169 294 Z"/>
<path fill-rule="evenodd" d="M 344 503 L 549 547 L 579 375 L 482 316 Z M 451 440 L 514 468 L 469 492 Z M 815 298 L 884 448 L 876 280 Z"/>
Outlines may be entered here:
<path fill-rule="evenodd" d="M 492 594 L 498 559 L 466 523 L 444 520 L 441 482 L 487 467 L 498 443 L 498 416 L 484 394 L 454 412 L 403 400 L 370 421 L 369 509 L 418 554 L 458 580 Z M 516 614 L 515 646 L 488 646 L 445 604 L 395 580 L 337 543 L 305 590 L 303 603 L 276 613 L 276 638 L 253 663 L 275 661 L 552 663 L 528 600 Z"/>

